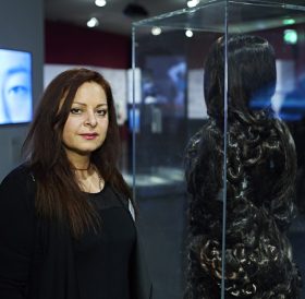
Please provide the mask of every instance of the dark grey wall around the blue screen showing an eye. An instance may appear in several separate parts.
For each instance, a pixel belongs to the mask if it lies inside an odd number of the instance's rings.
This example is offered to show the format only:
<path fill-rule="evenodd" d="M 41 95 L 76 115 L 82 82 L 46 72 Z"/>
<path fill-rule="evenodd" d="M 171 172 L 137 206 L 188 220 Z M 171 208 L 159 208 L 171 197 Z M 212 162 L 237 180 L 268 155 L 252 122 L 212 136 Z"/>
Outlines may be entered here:
<path fill-rule="evenodd" d="M 44 1 L 1 0 L 0 47 L 33 55 L 33 93 L 36 106 L 44 81 Z M 21 163 L 20 150 L 28 125 L 0 125 L 0 181 Z"/>

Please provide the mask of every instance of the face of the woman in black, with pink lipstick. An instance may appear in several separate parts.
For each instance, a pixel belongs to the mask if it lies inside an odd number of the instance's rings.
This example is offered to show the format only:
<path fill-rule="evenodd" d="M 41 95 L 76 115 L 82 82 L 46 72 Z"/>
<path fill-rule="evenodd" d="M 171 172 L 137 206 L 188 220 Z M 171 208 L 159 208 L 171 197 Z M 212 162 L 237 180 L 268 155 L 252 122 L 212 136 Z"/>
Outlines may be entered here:
<path fill-rule="evenodd" d="M 90 156 L 99 148 L 108 130 L 108 105 L 103 88 L 85 82 L 77 89 L 63 127 L 62 141 L 70 160 Z"/>

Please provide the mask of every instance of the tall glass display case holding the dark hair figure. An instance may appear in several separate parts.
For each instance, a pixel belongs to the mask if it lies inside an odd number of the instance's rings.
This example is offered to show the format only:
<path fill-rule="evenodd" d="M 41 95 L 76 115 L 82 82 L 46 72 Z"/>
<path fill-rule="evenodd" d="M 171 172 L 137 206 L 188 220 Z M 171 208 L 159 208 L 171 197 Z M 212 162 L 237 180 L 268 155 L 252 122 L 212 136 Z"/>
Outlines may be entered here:
<path fill-rule="evenodd" d="M 130 179 L 155 298 L 305 298 L 305 3 L 190 2 L 133 23 Z"/>

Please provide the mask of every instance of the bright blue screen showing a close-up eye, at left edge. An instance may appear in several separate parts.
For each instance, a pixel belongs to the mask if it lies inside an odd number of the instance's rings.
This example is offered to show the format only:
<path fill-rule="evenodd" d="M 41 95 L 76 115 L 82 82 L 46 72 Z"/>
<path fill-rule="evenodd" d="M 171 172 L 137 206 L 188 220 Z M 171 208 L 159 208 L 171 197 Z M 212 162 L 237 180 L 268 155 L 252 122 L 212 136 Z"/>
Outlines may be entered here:
<path fill-rule="evenodd" d="M 0 124 L 32 121 L 32 55 L 0 49 Z"/>

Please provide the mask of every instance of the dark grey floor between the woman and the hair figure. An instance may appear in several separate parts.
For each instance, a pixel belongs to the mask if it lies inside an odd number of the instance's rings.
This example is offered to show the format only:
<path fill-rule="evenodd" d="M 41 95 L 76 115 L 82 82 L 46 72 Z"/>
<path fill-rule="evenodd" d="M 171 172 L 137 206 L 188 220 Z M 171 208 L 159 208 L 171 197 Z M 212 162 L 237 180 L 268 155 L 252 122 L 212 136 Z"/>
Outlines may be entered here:
<path fill-rule="evenodd" d="M 181 299 L 184 288 L 186 199 L 183 195 L 167 195 L 139 199 L 138 203 L 154 298 Z"/>

